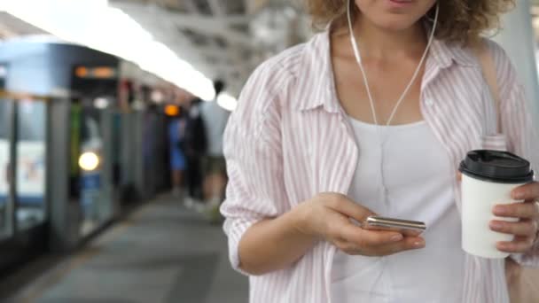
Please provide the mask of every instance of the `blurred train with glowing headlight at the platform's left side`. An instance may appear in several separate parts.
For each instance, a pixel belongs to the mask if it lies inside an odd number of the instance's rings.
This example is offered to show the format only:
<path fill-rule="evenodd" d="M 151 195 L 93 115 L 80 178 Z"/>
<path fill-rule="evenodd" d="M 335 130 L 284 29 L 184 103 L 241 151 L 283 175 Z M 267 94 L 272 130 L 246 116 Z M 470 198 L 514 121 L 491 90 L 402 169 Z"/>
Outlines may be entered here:
<path fill-rule="evenodd" d="M 82 45 L 0 43 L 0 275 L 76 249 L 168 190 L 163 109 L 180 97 L 189 94 Z"/>

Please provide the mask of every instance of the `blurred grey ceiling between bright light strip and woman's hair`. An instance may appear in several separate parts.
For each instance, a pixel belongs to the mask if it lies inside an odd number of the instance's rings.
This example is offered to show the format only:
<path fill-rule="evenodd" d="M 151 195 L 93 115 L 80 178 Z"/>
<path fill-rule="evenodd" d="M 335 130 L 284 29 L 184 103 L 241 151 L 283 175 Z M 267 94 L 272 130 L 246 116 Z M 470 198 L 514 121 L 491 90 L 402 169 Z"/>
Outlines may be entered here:
<path fill-rule="evenodd" d="M 301 43 L 309 21 L 285 0 L 109 0 L 155 40 L 238 94 L 264 58 Z M 181 73 L 181 71 L 178 71 Z"/>

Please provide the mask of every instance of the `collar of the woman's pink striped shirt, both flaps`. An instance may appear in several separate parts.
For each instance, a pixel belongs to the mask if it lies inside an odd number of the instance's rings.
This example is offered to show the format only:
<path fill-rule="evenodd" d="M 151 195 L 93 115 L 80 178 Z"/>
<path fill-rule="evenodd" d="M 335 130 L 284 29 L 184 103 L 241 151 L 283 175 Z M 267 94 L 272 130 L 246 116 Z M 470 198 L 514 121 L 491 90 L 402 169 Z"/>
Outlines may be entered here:
<path fill-rule="evenodd" d="M 479 61 L 473 55 L 473 51 L 468 48 L 434 39 L 426 68 L 444 69 L 454 64 L 479 66 Z M 312 90 L 308 96 L 298 98 L 295 108 L 300 111 L 308 111 L 322 106 L 329 113 L 342 112 L 333 75 L 330 27 L 326 28 L 323 33 L 315 35 L 306 44 L 302 55 L 302 66 L 304 73 L 301 74 L 301 79 L 313 82 L 309 85 Z"/>

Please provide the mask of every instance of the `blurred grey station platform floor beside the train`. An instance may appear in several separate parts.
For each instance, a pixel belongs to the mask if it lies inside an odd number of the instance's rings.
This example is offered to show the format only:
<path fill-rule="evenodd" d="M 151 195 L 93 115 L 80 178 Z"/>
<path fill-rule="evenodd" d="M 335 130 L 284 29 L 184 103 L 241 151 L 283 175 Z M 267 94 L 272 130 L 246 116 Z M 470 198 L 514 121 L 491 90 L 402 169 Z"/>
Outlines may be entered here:
<path fill-rule="evenodd" d="M 48 269 L 9 301 L 240 303 L 247 298 L 247 279 L 230 268 L 221 226 L 163 196 Z"/>

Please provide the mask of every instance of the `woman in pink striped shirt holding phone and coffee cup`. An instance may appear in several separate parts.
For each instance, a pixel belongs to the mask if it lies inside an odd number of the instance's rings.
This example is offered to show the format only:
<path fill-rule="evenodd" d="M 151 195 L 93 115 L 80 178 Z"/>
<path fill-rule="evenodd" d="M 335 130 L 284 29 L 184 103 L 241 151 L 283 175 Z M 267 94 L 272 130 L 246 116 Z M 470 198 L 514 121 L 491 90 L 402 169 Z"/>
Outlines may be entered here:
<path fill-rule="evenodd" d="M 225 134 L 224 229 L 251 302 L 508 302 L 504 260 L 460 248 L 457 167 L 467 151 L 500 147 L 469 45 L 511 1 L 352 0 L 351 31 L 345 0 L 308 4 L 326 30 L 254 72 Z M 539 167 L 524 90 L 485 43 L 505 144 Z M 518 237 L 497 248 L 539 264 L 539 184 L 513 195 L 528 203 L 493 212 L 520 221 L 491 229 Z M 403 237 L 351 222 L 371 214 L 429 229 Z"/>

